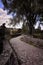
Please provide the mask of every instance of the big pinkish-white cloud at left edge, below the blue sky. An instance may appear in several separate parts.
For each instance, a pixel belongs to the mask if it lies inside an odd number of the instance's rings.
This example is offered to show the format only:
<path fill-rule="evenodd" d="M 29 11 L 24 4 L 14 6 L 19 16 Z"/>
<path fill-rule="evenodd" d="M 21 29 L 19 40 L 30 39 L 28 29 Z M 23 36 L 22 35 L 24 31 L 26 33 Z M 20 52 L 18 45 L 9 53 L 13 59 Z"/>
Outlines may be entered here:
<path fill-rule="evenodd" d="M 7 15 L 7 11 L 4 11 L 3 9 L 0 8 L 0 25 L 6 23 L 6 21 L 8 21 L 9 18 L 11 18 L 11 15 Z"/>

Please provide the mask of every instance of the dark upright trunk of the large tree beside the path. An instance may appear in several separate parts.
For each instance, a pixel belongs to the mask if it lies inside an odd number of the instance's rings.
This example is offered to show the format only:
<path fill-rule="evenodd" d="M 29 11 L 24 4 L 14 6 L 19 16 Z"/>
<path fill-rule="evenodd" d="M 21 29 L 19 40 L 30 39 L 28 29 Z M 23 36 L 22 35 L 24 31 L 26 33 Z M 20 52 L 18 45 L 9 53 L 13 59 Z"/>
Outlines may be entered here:
<path fill-rule="evenodd" d="M 32 35 L 34 32 L 34 22 L 35 22 L 35 18 L 33 13 L 30 13 L 29 16 L 27 17 L 28 20 L 28 27 L 29 27 L 29 34 Z"/>

